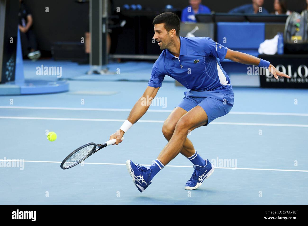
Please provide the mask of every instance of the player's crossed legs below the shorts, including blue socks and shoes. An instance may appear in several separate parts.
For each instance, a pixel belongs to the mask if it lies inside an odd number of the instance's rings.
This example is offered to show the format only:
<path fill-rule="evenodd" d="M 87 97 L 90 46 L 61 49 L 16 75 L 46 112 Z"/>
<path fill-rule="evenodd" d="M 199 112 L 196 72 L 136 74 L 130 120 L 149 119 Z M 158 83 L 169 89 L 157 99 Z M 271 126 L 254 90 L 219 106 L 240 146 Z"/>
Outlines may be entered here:
<path fill-rule="evenodd" d="M 182 110 L 174 110 L 171 116 L 179 117 Z M 170 116 L 170 118 L 172 118 Z M 170 119 L 169 118 L 169 119 Z M 172 137 L 170 138 L 168 144 L 161 151 L 158 158 L 153 162 L 150 167 L 144 167 L 139 164 L 134 164 L 131 160 L 126 161 L 126 166 L 128 172 L 130 173 L 134 184 L 138 188 L 140 192 L 143 192 L 151 183 L 153 177 L 164 168 L 165 164 L 168 164 L 174 157 L 176 157 L 182 150 L 185 154 L 193 153 L 193 144 L 187 139 L 188 130 L 192 131 L 200 126 L 207 124 L 208 117 L 205 113 L 204 109 L 200 106 L 196 106 L 187 113 L 185 113 L 180 119 L 177 121 Z M 165 126 L 168 125 L 166 121 Z M 164 132 L 165 127 L 163 128 L 163 133 L 165 136 L 168 134 L 166 131 Z M 185 147 L 184 147 L 185 144 Z M 194 158 L 194 159 L 193 159 Z M 205 178 L 209 177 L 213 171 L 214 167 L 208 160 L 202 159 L 197 152 L 193 154 L 192 158 L 188 158 L 192 162 L 197 161 L 200 162 L 201 165 L 194 163 L 194 172 L 191 176 L 190 180 L 185 184 L 185 189 L 193 190 L 199 188 L 204 181 Z M 193 159 L 193 160 L 192 160 Z"/>

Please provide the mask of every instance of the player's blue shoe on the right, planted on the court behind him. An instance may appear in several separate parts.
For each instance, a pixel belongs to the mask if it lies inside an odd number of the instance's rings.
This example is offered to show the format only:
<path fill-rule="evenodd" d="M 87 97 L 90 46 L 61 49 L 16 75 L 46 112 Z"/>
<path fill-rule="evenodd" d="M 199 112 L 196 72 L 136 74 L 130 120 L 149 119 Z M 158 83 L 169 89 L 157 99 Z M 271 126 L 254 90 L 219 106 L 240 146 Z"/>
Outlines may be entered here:
<path fill-rule="evenodd" d="M 210 163 L 208 159 L 205 159 L 206 165 L 201 167 L 199 165 L 194 165 L 193 168 L 193 175 L 191 178 L 186 182 L 185 189 L 186 190 L 194 190 L 199 188 L 203 181 L 209 176 L 212 175 L 214 172 L 214 166 Z"/>

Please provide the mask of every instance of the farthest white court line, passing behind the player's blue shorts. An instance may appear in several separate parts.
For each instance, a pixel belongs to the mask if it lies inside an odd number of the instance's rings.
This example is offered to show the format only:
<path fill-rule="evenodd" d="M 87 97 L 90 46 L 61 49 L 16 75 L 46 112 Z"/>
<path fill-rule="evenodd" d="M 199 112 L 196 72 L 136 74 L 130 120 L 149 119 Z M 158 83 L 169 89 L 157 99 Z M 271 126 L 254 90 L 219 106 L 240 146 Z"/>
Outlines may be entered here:
<path fill-rule="evenodd" d="M 0 108 L 7 108 L 7 109 L 45 109 L 45 110 L 83 110 L 83 111 L 131 111 L 132 110 L 132 109 L 117 109 L 117 108 L 61 108 L 61 107 L 25 107 L 25 106 L 0 106 Z M 148 112 L 172 112 L 172 110 L 148 109 Z M 308 113 L 241 112 L 241 111 L 230 111 L 228 114 L 308 116 Z"/>

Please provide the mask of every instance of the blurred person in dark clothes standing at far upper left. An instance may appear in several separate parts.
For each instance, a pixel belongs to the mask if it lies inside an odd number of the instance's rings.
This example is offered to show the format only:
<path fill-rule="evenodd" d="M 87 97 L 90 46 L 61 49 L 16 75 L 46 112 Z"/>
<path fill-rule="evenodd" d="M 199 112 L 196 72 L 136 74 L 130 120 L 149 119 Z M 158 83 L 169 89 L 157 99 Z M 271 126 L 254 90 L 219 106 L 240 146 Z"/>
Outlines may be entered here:
<path fill-rule="evenodd" d="M 27 55 L 30 59 L 37 60 L 41 57 L 41 52 L 38 50 L 36 37 L 32 30 L 32 15 L 30 10 L 23 4 L 23 0 L 19 0 L 18 17 L 22 54 Z"/>

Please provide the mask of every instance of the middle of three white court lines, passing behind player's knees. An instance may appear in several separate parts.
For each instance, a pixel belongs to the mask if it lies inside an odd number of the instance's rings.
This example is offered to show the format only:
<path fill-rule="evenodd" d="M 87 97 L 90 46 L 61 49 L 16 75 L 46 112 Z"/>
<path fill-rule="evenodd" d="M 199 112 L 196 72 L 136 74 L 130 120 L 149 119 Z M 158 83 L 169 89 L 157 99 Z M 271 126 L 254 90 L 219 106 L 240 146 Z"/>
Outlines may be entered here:
<path fill-rule="evenodd" d="M 125 119 L 102 119 L 102 118 L 47 118 L 47 117 L 11 117 L 0 116 L 0 119 L 34 119 L 34 120 L 64 120 L 64 121 L 107 121 L 107 122 L 124 122 Z M 154 122 L 163 123 L 164 120 L 139 120 L 137 122 Z M 278 124 L 278 123 L 245 123 L 245 122 L 211 122 L 211 125 L 258 125 L 258 126 L 291 126 L 291 127 L 308 127 L 305 124 Z"/>

